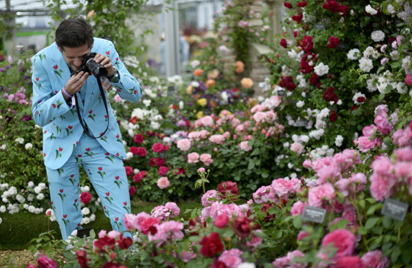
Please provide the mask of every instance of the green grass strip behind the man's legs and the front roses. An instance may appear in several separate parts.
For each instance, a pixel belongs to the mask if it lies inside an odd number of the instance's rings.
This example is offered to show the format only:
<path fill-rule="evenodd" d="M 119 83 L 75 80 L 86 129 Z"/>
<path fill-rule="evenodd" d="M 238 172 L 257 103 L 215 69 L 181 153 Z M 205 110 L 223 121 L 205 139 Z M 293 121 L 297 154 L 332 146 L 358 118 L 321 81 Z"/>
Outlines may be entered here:
<path fill-rule="evenodd" d="M 156 202 L 144 202 L 141 200 L 132 201 L 132 212 L 148 212 L 155 206 L 163 205 Z M 190 218 L 190 213 L 184 214 L 185 210 L 193 208 L 201 208 L 202 204 L 198 200 L 185 200 L 185 202 L 177 203 L 181 208 L 179 218 L 187 221 Z M 83 228 L 91 227 L 98 233 L 100 230 L 111 230 L 111 223 L 108 218 L 100 210 L 95 212 L 95 221 L 89 223 Z M 43 232 L 47 232 L 47 217 L 44 213 L 35 215 L 29 212 L 18 212 L 13 215 L 3 213 L 1 215 L 3 222 L 0 224 L 0 251 L 4 250 L 23 250 L 27 249 L 30 241 L 39 236 Z M 61 239 L 60 228 L 56 221 L 50 222 L 50 230 L 56 230 L 58 233 L 57 239 Z"/>

